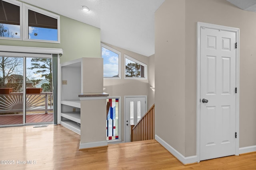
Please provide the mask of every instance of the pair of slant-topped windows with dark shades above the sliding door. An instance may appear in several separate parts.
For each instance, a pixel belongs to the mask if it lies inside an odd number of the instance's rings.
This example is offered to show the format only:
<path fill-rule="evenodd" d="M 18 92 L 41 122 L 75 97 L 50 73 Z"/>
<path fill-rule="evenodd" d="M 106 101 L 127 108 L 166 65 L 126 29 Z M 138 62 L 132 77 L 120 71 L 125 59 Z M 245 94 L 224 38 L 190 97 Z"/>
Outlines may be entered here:
<path fill-rule="evenodd" d="M 16 0 L 0 0 L 0 39 L 60 43 L 60 16 Z"/>

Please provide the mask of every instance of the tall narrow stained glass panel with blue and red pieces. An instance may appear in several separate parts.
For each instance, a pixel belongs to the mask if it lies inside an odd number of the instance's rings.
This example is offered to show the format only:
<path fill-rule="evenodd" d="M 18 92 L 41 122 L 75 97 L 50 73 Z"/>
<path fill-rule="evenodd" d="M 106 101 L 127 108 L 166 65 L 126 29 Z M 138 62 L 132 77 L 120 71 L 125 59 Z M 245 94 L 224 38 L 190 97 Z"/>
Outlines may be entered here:
<path fill-rule="evenodd" d="M 106 135 L 107 141 L 116 140 L 118 138 L 118 102 L 119 99 L 107 99 L 107 122 L 106 122 Z"/>

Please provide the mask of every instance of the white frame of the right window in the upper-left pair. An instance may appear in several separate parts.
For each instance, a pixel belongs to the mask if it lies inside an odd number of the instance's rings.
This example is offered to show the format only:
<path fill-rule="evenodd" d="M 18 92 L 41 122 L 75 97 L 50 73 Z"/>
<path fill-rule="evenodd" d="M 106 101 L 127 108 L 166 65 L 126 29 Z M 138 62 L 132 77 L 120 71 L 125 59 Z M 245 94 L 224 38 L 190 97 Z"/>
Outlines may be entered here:
<path fill-rule="evenodd" d="M 34 12 L 43 14 L 45 16 L 55 18 L 57 19 L 57 41 L 52 40 L 42 40 L 42 39 L 29 39 L 28 37 L 28 10 L 32 10 Z M 51 12 L 47 12 L 45 10 L 42 10 L 40 8 L 36 8 L 34 6 L 28 5 L 28 4 L 22 4 L 22 21 L 23 21 L 23 40 L 24 41 L 34 41 L 34 42 L 45 42 L 45 43 L 60 43 L 60 16 L 53 14 Z"/>

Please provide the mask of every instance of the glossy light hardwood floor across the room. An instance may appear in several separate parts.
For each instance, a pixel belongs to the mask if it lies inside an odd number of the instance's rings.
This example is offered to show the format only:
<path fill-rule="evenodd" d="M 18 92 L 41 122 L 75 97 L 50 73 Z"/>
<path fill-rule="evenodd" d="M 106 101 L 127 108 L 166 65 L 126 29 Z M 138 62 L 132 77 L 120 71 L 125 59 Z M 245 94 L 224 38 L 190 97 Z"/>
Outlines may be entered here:
<path fill-rule="evenodd" d="M 79 135 L 60 125 L 0 128 L 0 160 L 14 161 L 0 170 L 256 169 L 256 152 L 184 166 L 155 140 L 88 150 L 78 150 L 79 142 Z"/>

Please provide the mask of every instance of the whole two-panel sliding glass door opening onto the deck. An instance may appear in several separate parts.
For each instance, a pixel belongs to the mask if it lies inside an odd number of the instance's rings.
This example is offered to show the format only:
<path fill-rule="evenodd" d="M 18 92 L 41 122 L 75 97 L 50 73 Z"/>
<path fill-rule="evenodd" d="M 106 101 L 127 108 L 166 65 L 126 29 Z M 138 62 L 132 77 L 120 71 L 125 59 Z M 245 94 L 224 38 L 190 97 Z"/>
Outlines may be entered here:
<path fill-rule="evenodd" d="M 52 59 L 0 56 L 0 62 L 0 126 L 53 122 Z"/>

